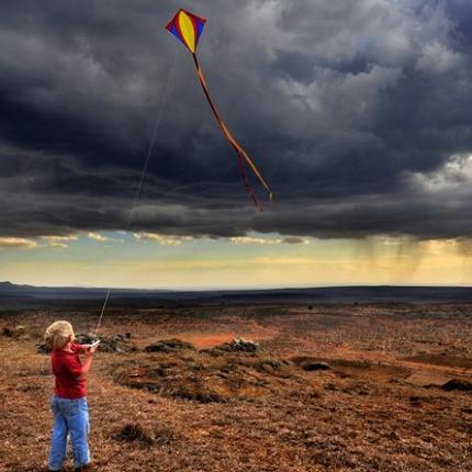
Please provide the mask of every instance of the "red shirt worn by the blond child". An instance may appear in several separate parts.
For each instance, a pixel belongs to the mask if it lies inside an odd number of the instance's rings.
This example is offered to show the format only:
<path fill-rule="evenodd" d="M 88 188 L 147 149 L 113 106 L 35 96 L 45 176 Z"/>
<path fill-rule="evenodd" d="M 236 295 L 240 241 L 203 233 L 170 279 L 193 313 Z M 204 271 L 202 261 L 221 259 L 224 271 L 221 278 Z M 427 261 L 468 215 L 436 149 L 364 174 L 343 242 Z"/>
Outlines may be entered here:
<path fill-rule="evenodd" d="M 87 378 L 79 379 L 82 363 L 79 352 L 81 345 L 71 344 L 71 352 L 55 349 L 50 357 L 56 385 L 54 394 L 60 398 L 81 398 L 87 396 Z"/>

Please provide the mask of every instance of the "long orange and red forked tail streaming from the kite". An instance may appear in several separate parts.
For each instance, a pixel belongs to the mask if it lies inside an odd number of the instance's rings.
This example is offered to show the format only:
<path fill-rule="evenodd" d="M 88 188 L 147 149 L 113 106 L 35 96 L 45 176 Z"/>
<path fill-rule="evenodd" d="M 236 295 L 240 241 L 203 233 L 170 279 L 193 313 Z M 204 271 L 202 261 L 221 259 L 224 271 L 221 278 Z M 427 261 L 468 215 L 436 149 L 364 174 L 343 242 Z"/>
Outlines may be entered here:
<path fill-rule="evenodd" d="M 257 168 L 256 164 L 254 164 L 252 159 L 248 156 L 248 154 L 246 153 L 246 150 L 239 145 L 239 143 L 233 137 L 233 135 L 231 134 L 229 130 L 227 128 L 227 126 L 225 125 L 225 123 L 223 122 L 223 119 L 221 117 L 218 111 L 216 110 L 215 104 L 213 103 L 213 100 L 210 95 L 210 91 L 209 91 L 209 86 L 206 85 L 206 80 L 203 76 L 202 69 L 200 68 L 200 64 L 199 60 L 196 58 L 196 54 L 192 53 L 192 57 L 193 57 L 193 63 L 195 65 L 195 69 L 196 69 L 196 75 L 199 76 L 199 80 L 200 83 L 202 86 L 203 92 L 206 97 L 206 100 L 209 101 L 209 104 L 212 109 L 213 114 L 215 115 L 216 122 L 220 125 L 220 128 L 222 130 L 223 134 L 225 135 L 226 139 L 228 141 L 228 143 L 232 145 L 233 149 L 237 153 L 238 155 L 238 161 L 239 161 L 239 169 L 241 170 L 241 175 L 243 175 L 243 179 L 244 179 L 244 183 L 245 183 L 245 188 L 246 191 L 249 193 L 249 195 L 251 196 L 252 201 L 255 202 L 256 206 L 261 209 L 260 203 L 258 202 L 254 191 L 250 189 L 249 187 L 249 182 L 247 180 L 247 175 L 246 175 L 246 170 L 244 168 L 244 161 L 243 158 L 247 161 L 247 164 L 249 165 L 249 167 L 251 168 L 252 172 L 256 175 L 256 177 L 259 179 L 259 182 L 262 184 L 262 187 L 267 190 L 267 192 L 269 193 L 269 199 L 270 201 L 273 200 L 273 193 L 270 190 L 268 183 L 266 182 L 266 179 L 262 177 L 262 175 L 260 173 L 259 169 Z"/>

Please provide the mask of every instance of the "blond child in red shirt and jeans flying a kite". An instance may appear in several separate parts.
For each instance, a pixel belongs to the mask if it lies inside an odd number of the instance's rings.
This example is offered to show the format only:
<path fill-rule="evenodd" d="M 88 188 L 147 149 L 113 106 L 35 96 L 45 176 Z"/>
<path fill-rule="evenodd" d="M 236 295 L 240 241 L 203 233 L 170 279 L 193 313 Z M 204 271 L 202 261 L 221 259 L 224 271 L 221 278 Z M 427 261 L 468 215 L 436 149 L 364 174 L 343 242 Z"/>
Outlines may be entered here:
<path fill-rule="evenodd" d="M 52 364 L 55 377 L 53 395 L 53 438 L 49 453 L 49 471 L 60 471 L 66 459 L 67 435 L 74 452 L 74 470 L 91 471 L 88 445 L 89 407 L 87 404 L 87 377 L 95 345 L 75 344 L 72 325 L 53 323 L 44 334 L 45 342 L 53 349 Z M 83 363 L 79 353 L 85 353 Z"/>

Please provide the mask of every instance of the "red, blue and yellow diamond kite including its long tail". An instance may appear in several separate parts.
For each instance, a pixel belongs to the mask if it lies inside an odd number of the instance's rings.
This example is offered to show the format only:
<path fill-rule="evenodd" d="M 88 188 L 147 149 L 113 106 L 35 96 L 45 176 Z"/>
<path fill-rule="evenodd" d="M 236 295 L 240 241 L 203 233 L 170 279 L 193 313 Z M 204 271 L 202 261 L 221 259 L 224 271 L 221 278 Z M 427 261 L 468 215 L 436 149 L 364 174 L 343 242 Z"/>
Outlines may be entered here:
<path fill-rule="evenodd" d="M 195 65 L 196 76 L 199 77 L 200 83 L 202 86 L 203 92 L 206 97 L 206 100 L 209 101 L 210 108 L 212 109 L 212 112 L 216 119 L 216 122 L 222 130 L 224 136 L 233 147 L 233 149 L 237 154 L 238 159 L 238 166 L 239 171 L 243 177 L 244 186 L 246 189 L 246 192 L 250 195 L 252 199 L 254 204 L 259 210 L 262 210 L 256 194 L 254 193 L 252 189 L 249 186 L 249 181 L 246 173 L 245 162 L 249 165 L 252 172 L 256 175 L 256 177 L 259 179 L 262 187 L 267 190 L 269 193 L 269 199 L 272 201 L 272 191 L 270 190 L 269 186 L 267 184 L 265 178 L 260 173 L 259 169 L 254 164 L 252 159 L 248 156 L 246 150 L 239 145 L 239 143 L 234 138 L 229 130 L 227 128 L 226 124 L 223 122 L 223 119 L 221 117 L 215 104 L 213 103 L 213 100 L 210 95 L 209 86 L 206 85 L 206 80 L 203 76 L 202 69 L 199 64 L 199 59 L 196 58 L 196 45 L 199 43 L 200 36 L 203 32 L 203 26 L 205 25 L 206 19 L 200 18 L 194 15 L 193 13 L 190 13 L 187 10 L 180 9 L 173 19 L 167 24 L 166 30 L 168 30 L 170 33 L 172 33 L 191 53 L 193 57 L 193 63 Z"/>

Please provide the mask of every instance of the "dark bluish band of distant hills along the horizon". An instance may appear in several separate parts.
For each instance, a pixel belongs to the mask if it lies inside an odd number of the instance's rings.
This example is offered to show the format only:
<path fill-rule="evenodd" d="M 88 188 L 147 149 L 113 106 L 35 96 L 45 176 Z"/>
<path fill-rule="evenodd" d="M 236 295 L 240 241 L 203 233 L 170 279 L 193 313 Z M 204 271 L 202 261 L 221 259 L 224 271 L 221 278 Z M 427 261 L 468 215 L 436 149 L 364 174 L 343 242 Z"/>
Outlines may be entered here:
<path fill-rule="evenodd" d="M 0 282 L 0 306 L 8 301 L 97 301 L 108 289 L 48 288 Z M 366 302 L 472 302 L 472 289 L 462 286 L 330 286 L 313 289 L 166 291 L 113 289 L 111 300 L 135 303 L 366 303 Z"/>

